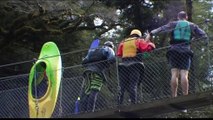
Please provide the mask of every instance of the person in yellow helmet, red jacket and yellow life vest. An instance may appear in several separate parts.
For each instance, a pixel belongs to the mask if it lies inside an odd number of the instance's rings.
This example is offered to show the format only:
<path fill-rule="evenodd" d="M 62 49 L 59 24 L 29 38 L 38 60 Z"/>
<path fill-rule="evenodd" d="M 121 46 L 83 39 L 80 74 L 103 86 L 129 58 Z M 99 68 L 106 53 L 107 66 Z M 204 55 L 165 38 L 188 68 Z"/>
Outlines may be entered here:
<path fill-rule="evenodd" d="M 137 85 L 144 70 L 141 53 L 150 52 L 155 48 L 155 44 L 148 37 L 146 40 L 141 37 L 141 31 L 133 29 L 130 36 L 118 46 L 117 56 L 122 60 L 118 65 L 120 85 L 118 105 L 122 104 L 126 90 L 129 92 L 131 103 L 137 102 Z"/>

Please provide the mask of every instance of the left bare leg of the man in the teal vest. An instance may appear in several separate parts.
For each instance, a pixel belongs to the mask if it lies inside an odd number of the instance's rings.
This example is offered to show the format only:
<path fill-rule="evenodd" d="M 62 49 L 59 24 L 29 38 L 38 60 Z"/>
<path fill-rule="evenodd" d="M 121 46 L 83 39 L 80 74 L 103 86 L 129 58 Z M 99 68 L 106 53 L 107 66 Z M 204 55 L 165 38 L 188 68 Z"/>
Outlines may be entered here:
<path fill-rule="evenodd" d="M 172 97 L 177 97 L 177 88 L 178 88 L 178 77 L 179 77 L 179 70 L 176 68 L 171 69 L 171 91 Z"/>

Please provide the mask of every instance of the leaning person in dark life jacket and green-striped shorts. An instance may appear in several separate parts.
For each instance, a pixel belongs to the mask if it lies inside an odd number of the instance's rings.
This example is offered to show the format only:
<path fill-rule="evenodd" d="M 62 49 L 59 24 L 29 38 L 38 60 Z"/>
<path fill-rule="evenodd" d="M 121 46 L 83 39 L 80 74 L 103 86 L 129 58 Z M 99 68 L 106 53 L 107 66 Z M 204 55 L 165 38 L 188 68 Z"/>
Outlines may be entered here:
<path fill-rule="evenodd" d="M 99 48 L 98 48 L 99 49 Z M 95 104 L 97 100 L 98 93 L 100 92 L 104 82 L 107 81 L 106 72 L 109 70 L 111 64 L 115 63 L 115 52 L 114 52 L 114 44 L 111 41 L 106 41 L 104 45 L 100 48 L 101 53 L 96 52 L 92 54 L 93 50 L 90 50 L 87 56 L 83 60 L 83 65 L 86 70 L 83 73 L 83 77 L 86 79 L 85 81 L 85 89 L 83 93 L 83 97 L 81 100 L 81 111 L 85 112 L 94 112 Z M 85 64 L 84 61 L 88 61 L 93 56 L 101 57 L 101 58 L 93 58 L 93 61 L 87 62 Z"/>

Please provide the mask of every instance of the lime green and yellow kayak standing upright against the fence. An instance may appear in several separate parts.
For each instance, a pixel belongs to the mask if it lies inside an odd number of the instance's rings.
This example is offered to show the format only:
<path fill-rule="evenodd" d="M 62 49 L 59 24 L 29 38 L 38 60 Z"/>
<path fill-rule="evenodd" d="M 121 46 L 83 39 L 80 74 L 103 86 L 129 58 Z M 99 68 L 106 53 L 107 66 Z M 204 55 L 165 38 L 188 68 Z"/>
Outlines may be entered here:
<path fill-rule="evenodd" d="M 55 109 L 62 76 L 62 61 L 54 42 L 42 46 L 29 75 L 30 118 L 50 118 Z"/>

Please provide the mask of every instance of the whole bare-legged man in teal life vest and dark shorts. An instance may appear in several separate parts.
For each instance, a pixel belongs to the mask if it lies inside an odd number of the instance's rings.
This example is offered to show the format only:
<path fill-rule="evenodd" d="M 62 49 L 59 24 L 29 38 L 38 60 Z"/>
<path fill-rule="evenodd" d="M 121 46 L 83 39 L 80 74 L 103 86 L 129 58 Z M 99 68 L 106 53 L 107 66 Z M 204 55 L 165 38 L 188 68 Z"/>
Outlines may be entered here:
<path fill-rule="evenodd" d="M 177 21 L 171 21 L 150 32 L 148 37 L 160 32 L 170 32 L 170 48 L 167 51 L 167 59 L 171 68 L 171 92 L 172 97 L 177 97 L 178 77 L 180 75 L 182 94 L 188 95 L 189 82 L 188 74 L 193 57 L 190 48 L 192 37 L 203 37 L 208 44 L 207 34 L 198 25 L 189 22 L 185 11 L 177 15 Z"/>

